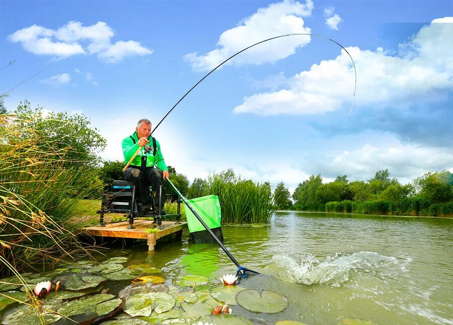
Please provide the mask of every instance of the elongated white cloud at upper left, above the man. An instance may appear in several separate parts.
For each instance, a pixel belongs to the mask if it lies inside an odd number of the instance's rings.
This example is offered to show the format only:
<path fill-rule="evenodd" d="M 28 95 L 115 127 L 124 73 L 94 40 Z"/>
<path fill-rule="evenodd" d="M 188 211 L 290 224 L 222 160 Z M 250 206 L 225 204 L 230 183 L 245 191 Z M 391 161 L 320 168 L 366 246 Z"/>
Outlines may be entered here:
<path fill-rule="evenodd" d="M 38 55 L 52 55 L 57 58 L 77 54 L 97 54 L 108 62 L 118 62 L 125 57 L 153 53 L 136 41 L 111 42 L 115 31 L 105 22 L 83 26 L 71 21 L 57 30 L 33 25 L 20 29 L 8 36 L 14 43 Z"/>

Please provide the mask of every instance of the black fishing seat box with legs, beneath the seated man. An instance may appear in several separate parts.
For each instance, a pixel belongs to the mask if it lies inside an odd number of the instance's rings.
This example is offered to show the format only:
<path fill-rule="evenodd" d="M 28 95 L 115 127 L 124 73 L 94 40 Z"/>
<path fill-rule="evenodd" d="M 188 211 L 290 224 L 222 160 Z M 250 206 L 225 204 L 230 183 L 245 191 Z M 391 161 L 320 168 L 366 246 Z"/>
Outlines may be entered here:
<path fill-rule="evenodd" d="M 161 185 L 162 186 L 162 185 Z M 114 180 L 112 184 L 104 184 L 104 190 L 101 200 L 101 210 L 98 210 L 97 213 L 100 215 L 99 218 L 99 227 L 105 227 L 104 224 L 104 215 L 107 213 L 121 213 L 129 219 L 129 226 L 127 229 L 134 229 L 133 226 L 135 217 L 150 218 L 154 217 L 153 223 L 157 223 L 159 229 L 162 228 L 162 218 L 161 215 L 156 213 L 156 203 L 153 195 L 152 188 L 147 187 L 147 192 L 149 194 L 148 202 L 150 202 L 150 211 L 140 212 L 137 204 L 136 197 L 136 186 L 132 182 L 125 180 Z M 176 220 L 177 223 L 180 223 L 181 213 L 180 213 L 180 200 L 178 200 Z M 158 211 L 162 211 L 160 207 Z M 169 215 L 175 216 L 175 215 Z"/>

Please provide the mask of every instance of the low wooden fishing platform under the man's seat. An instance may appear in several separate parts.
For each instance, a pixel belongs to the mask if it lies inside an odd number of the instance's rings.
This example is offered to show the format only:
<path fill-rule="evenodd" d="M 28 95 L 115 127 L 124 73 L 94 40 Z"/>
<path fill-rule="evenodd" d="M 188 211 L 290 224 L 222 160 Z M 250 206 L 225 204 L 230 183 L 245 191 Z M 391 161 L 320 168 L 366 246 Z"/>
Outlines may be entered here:
<path fill-rule="evenodd" d="M 105 227 L 86 227 L 83 228 L 88 234 L 99 237 L 120 237 L 120 238 L 140 238 L 147 239 L 148 250 L 154 251 L 156 241 L 164 236 L 172 235 L 181 238 L 183 229 L 187 228 L 187 222 L 176 223 L 175 221 L 162 221 L 164 229 L 156 233 L 147 233 L 146 229 L 155 228 L 152 220 L 135 219 L 133 226 L 135 229 L 127 229 L 128 221 L 114 222 L 106 224 Z"/>

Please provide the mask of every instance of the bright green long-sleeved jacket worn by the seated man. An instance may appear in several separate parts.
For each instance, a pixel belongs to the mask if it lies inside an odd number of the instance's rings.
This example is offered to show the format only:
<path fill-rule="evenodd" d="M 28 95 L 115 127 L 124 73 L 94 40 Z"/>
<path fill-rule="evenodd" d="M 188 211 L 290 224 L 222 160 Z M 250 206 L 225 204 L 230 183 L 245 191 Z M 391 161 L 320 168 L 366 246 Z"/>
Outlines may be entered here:
<path fill-rule="evenodd" d="M 133 140 L 132 140 L 132 138 Z M 149 137 L 149 142 L 146 144 L 151 147 L 151 152 L 145 153 L 144 147 L 140 150 L 137 157 L 134 158 L 131 162 L 131 166 L 146 166 L 153 167 L 155 164 L 162 171 L 168 170 L 167 165 L 165 164 L 164 157 L 162 156 L 161 145 L 159 141 L 156 140 L 156 156 L 153 152 L 153 138 Z M 138 150 L 138 137 L 137 132 L 134 132 L 130 137 L 124 138 L 121 146 L 123 147 L 124 163 L 127 164 Z"/>

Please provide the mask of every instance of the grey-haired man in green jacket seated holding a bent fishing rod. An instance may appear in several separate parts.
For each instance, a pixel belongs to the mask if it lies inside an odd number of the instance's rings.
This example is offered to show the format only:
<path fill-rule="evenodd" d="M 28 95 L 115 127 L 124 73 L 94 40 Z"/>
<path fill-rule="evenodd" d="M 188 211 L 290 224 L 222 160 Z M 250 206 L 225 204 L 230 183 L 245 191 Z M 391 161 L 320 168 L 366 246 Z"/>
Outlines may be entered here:
<path fill-rule="evenodd" d="M 121 143 L 123 148 L 124 162 L 127 164 L 139 147 L 143 147 L 138 155 L 132 160 L 129 167 L 123 172 L 124 180 L 130 181 L 136 186 L 138 192 L 139 211 L 146 213 L 150 211 L 148 202 L 147 186 L 151 186 L 156 193 L 156 214 L 165 215 L 165 189 L 162 186 L 162 198 L 160 185 L 163 179 L 169 177 L 168 167 L 165 164 L 159 141 L 151 136 L 151 122 L 142 118 L 135 127 L 135 132 Z M 158 168 L 154 168 L 154 166 Z M 161 202 L 161 211 L 159 211 Z"/>

